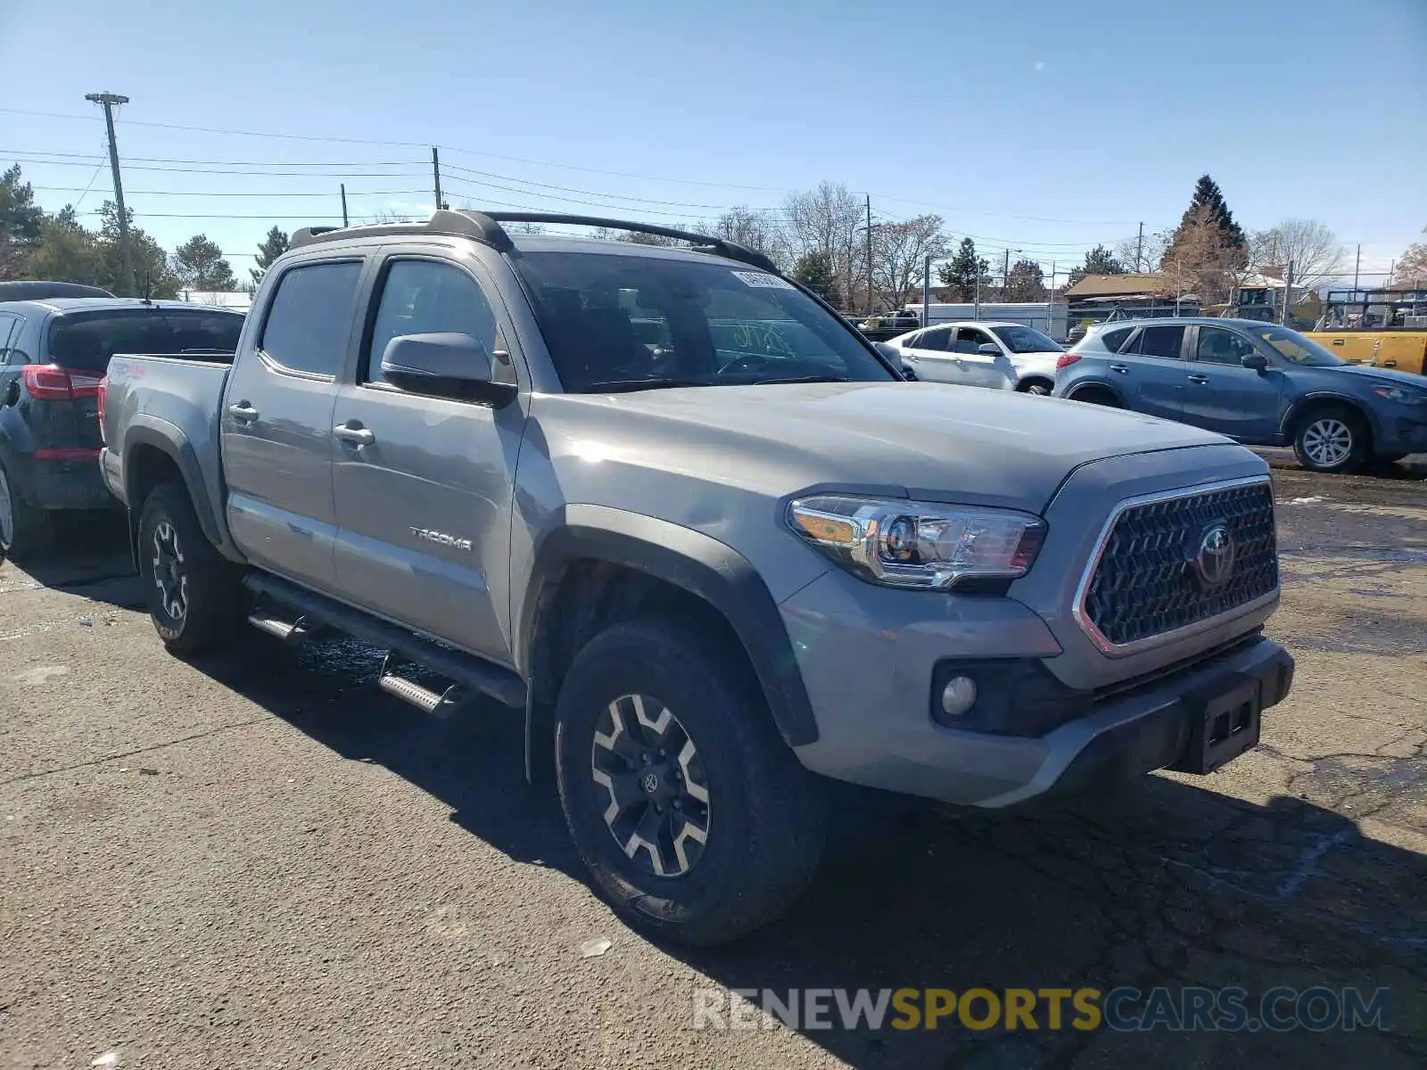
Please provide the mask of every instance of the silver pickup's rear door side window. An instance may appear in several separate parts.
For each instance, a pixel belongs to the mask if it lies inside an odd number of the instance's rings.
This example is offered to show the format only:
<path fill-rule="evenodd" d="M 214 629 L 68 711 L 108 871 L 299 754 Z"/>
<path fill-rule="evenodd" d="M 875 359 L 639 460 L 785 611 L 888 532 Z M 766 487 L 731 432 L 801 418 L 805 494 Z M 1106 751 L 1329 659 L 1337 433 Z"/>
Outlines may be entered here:
<path fill-rule="evenodd" d="M 258 348 L 293 371 L 337 375 L 347 357 L 361 261 L 287 271 L 268 307 Z"/>

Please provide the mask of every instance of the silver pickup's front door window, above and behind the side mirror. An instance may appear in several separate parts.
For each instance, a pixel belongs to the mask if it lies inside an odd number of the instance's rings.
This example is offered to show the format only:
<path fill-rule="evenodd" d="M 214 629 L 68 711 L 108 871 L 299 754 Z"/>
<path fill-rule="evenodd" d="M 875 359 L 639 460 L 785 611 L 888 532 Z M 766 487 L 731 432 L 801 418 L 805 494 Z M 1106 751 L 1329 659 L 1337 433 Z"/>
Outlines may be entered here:
<path fill-rule="evenodd" d="M 465 271 L 434 260 L 398 260 L 387 271 L 377 305 L 371 345 L 367 350 L 367 379 L 380 382 L 381 355 L 387 342 L 402 334 L 468 334 L 495 352 L 495 312 L 481 287 Z M 499 370 L 501 365 L 497 365 Z M 512 372 L 511 365 L 504 365 Z M 497 375 L 499 381 L 501 377 Z M 504 378 L 514 382 L 514 374 Z"/>

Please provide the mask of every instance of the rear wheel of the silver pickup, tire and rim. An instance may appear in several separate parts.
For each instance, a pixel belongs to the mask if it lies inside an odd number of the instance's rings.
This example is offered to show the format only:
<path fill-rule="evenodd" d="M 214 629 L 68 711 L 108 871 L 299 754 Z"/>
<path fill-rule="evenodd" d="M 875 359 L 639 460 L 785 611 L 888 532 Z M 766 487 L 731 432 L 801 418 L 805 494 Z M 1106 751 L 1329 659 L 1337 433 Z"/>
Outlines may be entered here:
<path fill-rule="evenodd" d="M 144 501 L 138 578 L 154 629 L 176 653 L 217 646 L 241 621 L 238 569 L 208 542 L 180 486 L 161 484 Z"/>

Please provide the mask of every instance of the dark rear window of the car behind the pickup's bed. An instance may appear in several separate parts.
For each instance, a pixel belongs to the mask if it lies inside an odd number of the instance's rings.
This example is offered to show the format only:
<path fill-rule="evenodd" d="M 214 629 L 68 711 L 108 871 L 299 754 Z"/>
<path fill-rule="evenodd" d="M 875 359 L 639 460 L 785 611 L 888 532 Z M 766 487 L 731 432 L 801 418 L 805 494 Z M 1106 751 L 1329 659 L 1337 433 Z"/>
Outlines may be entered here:
<path fill-rule="evenodd" d="M 243 317 L 186 308 L 126 308 L 60 317 L 50 328 L 50 360 L 64 368 L 103 374 L 116 352 L 160 357 L 231 354 Z"/>

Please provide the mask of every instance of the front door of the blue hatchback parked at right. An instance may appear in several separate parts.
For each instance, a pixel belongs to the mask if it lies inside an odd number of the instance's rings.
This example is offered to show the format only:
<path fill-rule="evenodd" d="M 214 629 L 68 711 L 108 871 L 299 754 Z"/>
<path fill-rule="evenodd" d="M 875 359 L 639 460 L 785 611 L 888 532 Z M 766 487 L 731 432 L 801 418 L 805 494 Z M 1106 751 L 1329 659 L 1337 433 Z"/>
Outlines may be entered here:
<path fill-rule="evenodd" d="M 1283 372 L 1246 368 L 1259 352 L 1251 341 L 1226 327 L 1200 327 L 1194 360 L 1187 365 L 1184 422 L 1244 442 L 1267 442 L 1279 429 Z"/>

